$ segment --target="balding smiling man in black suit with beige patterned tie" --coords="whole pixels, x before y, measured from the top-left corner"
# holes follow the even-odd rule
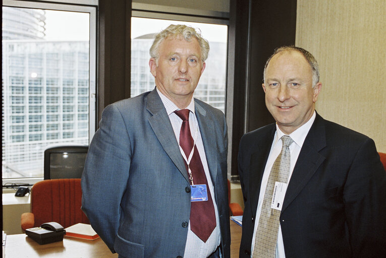
[[[386,257],[385,171],[370,138],[316,113],[315,58],[277,49],[262,86],[276,123],[240,142],[240,257]]]

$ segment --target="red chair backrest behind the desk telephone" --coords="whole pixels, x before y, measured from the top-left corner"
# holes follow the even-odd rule
[[[35,227],[51,221],[65,228],[80,222],[90,224],[81,205],[80,178],[43,180],[32,186],[31,212]]]

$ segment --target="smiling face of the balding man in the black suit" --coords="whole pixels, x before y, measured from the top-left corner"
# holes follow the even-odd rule
[[[321,83],[312,88],[312,69],[298,51],[275,54],[265,71],[265,104],[280,130],[291,134],[305,124],[315,110]]]

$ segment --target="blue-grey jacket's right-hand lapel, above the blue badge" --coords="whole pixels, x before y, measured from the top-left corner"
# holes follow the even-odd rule
[[[215,178],[217,176],[218,164],[216,135],[214,134],[214,130],[212,130],[212,128],[214,128],[214,123],[211,119],[208,119],[208,117],[206,117],[206,110],[202,106],[200,106],[197,101],[194,102],[194,109],[197,117],[198,126],[200,128],[202,144],[204,145],[209,173],[212,179],[212,183],[214,185]]]

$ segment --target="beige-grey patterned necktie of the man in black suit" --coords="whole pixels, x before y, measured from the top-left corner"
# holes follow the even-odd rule
[[[294,142],[291,137],[283,136],[283,148],[273,163],[265,188],[263,205],[257,225],[253,258],[269,258],[276,256],[276,245],[279,233],[280,211],[271,208],[273,188],[275,182],[287,183],[290,174],[290,145]]]

